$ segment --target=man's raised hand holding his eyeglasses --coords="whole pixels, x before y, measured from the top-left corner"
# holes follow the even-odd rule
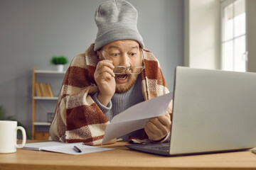
[[[102,60],[98,62],[95,70],[95,81],[99,87],[97,98],[100,103],[107,106],[115,92],[114,66],[111,60]]]

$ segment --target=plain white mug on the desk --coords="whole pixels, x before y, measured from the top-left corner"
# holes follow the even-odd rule
[[[22,132],[22,144],[17,145],[17,130]],[[13,153],[26,144],[26,131],[17,121],[0,120],[0,153]]]

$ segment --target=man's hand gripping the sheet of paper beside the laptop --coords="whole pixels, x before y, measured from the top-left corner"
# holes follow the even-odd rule
[[[169,113],[166,115],[159,115],[157,118],[151,118],[146,123],[144,128],[149,140],[162,140],[170,132],[171,129],[171,116]]]

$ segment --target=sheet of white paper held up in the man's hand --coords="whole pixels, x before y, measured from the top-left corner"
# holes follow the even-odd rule
[[[110,125],[107,125],[102,145],[114,138],[144,128],[149,118],[165,115],[172,96],[173,94],[169,93],[152,98],[114,116]]]

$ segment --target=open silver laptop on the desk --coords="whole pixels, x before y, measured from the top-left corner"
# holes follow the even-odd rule
[[[176,67],[170,142],[127,145],[177,156],[256,147],[256,73]]]

